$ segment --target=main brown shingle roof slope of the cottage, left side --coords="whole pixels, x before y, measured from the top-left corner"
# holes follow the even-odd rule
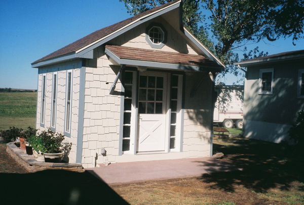
[[[143,17],[145,15],[148,15],[150,13],[153,13],[155,11],[161,10],[164,7],[170,6],[171,4],[174,4],[176,2],[177,2],[177,0],[173,1],[173,2],[170,2],[170,3],[167,3],[167,4],[164,4],[164,5],[159,6],[157,8],[148,10],[146,12],[143,12],[141,14],[133,16],[133,17],[131,17],[129,19],[121,21],[119,23],[116,23],[116,24],[107,26],[105,28],[102,28],[100,30],[97,30],[97,31],[95,31],[95,32],[93,32],[93,33],[91,33],[91,34],[89,34],[89,35],[87,35],[87,36],[85,36],[85,37],[83,37],[83,38],[75,41],[74,43],[71,43],[71,44],[63,47],[62,49],[59,49],[59,50],[57,50],[57,51],[55,51],[55,52],[53,52],[53,53],[51,53],[51,54],[49,54],[49,55],[47,55],[47,56],[39,59],[39,60],[34,61],[33,63],[39,63],[39,62],[42,62],[42,61],[45,61],[45,60],[49,60],[49,59],[56,58],[56,57],[59,57],[59,56],[67,55],[67,54],[70,54],[70,53],[74,53],[74,52],[80,50],[81,48],[83,48],[85,46],[88,46],[89,44],[95,42],[96,40],[98,40],[98,39],[100,39],[100,38],[102,38],[102,37],[104,37],[104,36],[106,36],[106,35],[114,32],[114,31],[122,28],[123,26],[131,23],[132,21],[135,21],[136,19],[139,19],[139,18],[141,18],[141,17]]]

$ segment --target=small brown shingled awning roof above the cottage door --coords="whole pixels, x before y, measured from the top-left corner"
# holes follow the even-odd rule
[[[105,46],[105,53],[118,64],[171,69],[189,69],[191,67],[200,71],[204,68],[214,68],[217,69],[217,72],[221,72],[222,69],[222,66],[202,55],[108,45]]]

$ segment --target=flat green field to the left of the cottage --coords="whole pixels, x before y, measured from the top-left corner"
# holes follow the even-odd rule
[[[0,130],[35,127],[37,93],[0,93]]]

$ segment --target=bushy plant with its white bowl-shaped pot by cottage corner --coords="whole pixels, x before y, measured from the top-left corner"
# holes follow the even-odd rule
[[[50,129],[42,131],[37,137],[41,138],[46,162],[60,162],[63,154],[71,149],[72,143],[63,142],[64,135]]]

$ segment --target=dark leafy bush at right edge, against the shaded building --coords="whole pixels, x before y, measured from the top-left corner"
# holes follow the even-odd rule
[[[294,140],[295,147],[301,151],[304,149],[304,110],[298,112],[295,124],[289,129],[288,134]]]

